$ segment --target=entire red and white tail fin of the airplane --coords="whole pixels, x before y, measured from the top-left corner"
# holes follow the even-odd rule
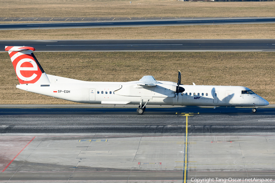
[[[32,53],[35,51],[35,48],[27,46],[6,46],[5,51],[9,52],[20,84],[50,83],[45,71]]]

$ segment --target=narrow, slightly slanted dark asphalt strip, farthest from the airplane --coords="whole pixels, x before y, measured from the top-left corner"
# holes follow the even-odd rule
[[[244,23],[274,23],[274,17],[252,18],[179,18],[158,20],[126,20],[104,22],[65,22],[65,23],[14,23],[0,24],[0,30],[26,29],[64,29],[64,28],[91,28],[91,27],[131,27],[131,26],[175,26],[175,25],[220,25]]]

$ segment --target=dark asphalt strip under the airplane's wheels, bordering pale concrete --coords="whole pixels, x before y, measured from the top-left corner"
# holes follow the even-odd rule
[[[1,133],[274,132],[274,107],[1,107]]]

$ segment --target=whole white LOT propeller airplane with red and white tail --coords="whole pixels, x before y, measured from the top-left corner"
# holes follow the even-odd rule
[[[146,104],[179,106],[257,107],[269,102],[244,86],[207,86],[157,81],[143,76],[139,81],[90,82],[46,74],[35,58],[32,47],[6,46],[20,85],[16,88],[42,95],[86,104],[139,104],[143,114]]]

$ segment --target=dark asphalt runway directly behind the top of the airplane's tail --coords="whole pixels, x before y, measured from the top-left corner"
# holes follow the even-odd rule
[[[275,51],[275,39],[1,40],[36,51]]]

